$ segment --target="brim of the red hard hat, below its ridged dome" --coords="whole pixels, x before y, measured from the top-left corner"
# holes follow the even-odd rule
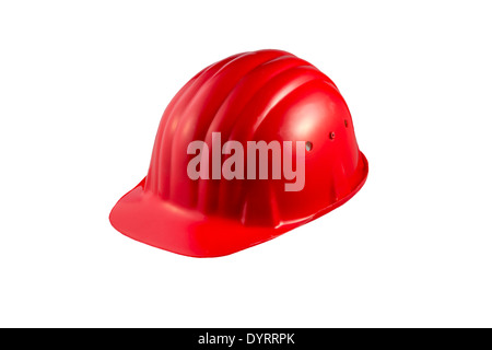
[[[164,250],[191,257],[230,255],[270,241],[347,202],[367,177],[367,160],[362,152],[360,155],[361,180],[348,196],[308,218],[277,228],[246,226],[239,221],[176,206],[145,192],[145,178],[115,205],[109,221],[124,235]]]

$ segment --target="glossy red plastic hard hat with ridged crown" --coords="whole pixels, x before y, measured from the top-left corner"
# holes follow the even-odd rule
[[[197,140],[204,144],[199,178],[188,173],[195,158],[189,145]],[[283,153],[303,154],[304,186],[288,190],[293,180],[285,174],[208,176],[216,147],[221,153],[229,140],[244,149],[250,141],[302,142],[303,152],[292,147]],[[224,151],[222,159],[231,154]],[[267,166],[272,164],[270,159]],[[258,163],[245,162],[245,174],[250,165]],[[122,234],[162,249],[222,256],[343,205],[362,187],[367,170],[349,108],[327,75],[285,51],[245,52],[207,67],[176,94],[162,116],[147,177],[116,203],[109,220]]]

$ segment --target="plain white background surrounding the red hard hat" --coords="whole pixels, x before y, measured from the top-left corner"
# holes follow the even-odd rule
[[[2,1],[0,326],[492,326],[488,1]],[[196,259],[112,228],[203,67],[278,48],[345,97],[366,185]]]

